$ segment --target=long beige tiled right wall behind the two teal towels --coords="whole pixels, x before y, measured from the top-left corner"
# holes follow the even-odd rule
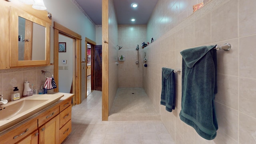
[[[175,6],[175,2],[180,10],[177,13],[167,7],[171,3]],[[182,0],[159,0],[154,9],[147,34],[156,40],[143,50],[148,59],[148,67],[143,68],[144,90],[176,144],[256,143],[256,1],[211,0],[186,18],[181,10],[184,3],[190,5]],[[164,17],[173,20],[162,25]],[[219,129],[214,140],[205,140],[179,118],[182,74],[175,74],[176,110],[170,113],[160,105],[161,68],[181,69],[180,51],[184,49],[225,43],[232,49],[217,52],[215,104]]]

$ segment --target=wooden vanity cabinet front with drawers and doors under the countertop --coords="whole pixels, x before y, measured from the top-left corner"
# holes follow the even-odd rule
[[[0,136],[0,144],[60,144],[70,134],[72,96]],[[15,137],[15,138],[14,138]]]

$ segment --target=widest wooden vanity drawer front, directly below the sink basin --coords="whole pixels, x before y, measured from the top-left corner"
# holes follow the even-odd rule
[[[14,144],[37,130],[37,120],[32,120],[0,137],[0,144]]]

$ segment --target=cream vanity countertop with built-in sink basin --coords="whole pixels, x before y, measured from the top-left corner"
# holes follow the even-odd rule
[[[51,106],[63,94],[34,94],[20,100],[11,101],[0,106],[0,132],[7,126],[15,124]]]

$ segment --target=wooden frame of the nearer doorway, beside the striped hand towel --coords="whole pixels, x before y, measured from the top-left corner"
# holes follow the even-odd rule
[[[80,104],[81,103],[81,40],[82,36],[73,32],[72,30],[58,24],[57,22],[54,23],[54,80],[56,82],[57,88],[54,89],[54,92],[59,92],[58,88],[58,60],[59,60],[59,34],[64,36],[68,36],[73,38],[73,104]]]

